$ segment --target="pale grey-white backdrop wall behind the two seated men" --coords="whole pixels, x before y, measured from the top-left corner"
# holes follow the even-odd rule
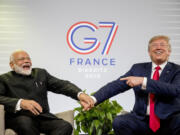
[[[88,94],[127,72],[132,64],[150,61],[148,40],[159,34],[171,37],[170,60],[180,64],[180,1],[178,0],[0,0],[0,73],[10,70],[9,55],[24,49],[33,67],[45,68],[52,75],[69,80]],[[72,51],[66,41],[70,27],[80,21],[98,26],[96,32],[79,29],[75,42],[81,47],[84,37],[95,37],[101,44],[93,53]],[[115,22],[118,30],[108,55],[101,51],[111,28],[99,22]],[[70,65],[70,59],[111,59],[114,65]],[[49,93],[51,112],[79,106],[77,101]],[[132,90],[117,95],[125,110],[132,110]]]

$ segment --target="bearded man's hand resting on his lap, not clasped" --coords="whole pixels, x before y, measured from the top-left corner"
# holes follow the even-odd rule
[[[22,99],[20,107],[24,110],[29,110],[34,115],[39,115],[42,113],[42,107],[34,100]]]

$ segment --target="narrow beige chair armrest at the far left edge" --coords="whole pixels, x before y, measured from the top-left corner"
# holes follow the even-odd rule
[[[4,120],[4,105],[0,105],[0,135],[4,135],[5,120]]]

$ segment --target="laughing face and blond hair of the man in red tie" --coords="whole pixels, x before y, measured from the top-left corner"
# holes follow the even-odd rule
[[[166,62],[171,53],[168,37],[156,37],[149,42],[149,56],[156,65]]]

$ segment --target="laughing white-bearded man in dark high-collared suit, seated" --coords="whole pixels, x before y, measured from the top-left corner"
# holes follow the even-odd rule
[[[17,50],[10,56],[12,71],[0,75],[0,104],[6,110],[6,128],[18,135],[71,135],[72,126],[50,113],[47,92],[70,96],[82,105],[93,100],[76,85],[50,75],[45,69],[32,68],[27,52]]]

